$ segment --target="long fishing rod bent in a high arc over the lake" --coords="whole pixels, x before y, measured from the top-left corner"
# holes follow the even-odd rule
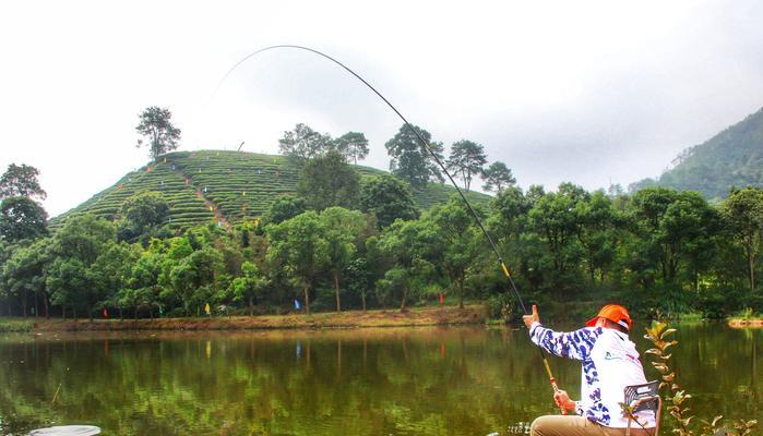
[[[397,108],[395,108],[394,105],[392,105],[390,102],[390,100],[388,100],[379,90],[377,90],[377,88],[374,88],[370,83],[368,83],[358,73],[350,70],[349,66],[347,66],[344,63],[339,62],[338,60],[332,58],[331,56],[325,55],[325,53],[318,51],[315,49],[312,49],[310,47],[296,46],[296,45],[270,46],[270,47],[265,47],[265,48],[259,49],[257,51],[253,51],[253,52],[247,55],[246,57],[243,57],[240,61],[236,62],[236,64],[234,64],[234,66],[231,66],[230,70],[228,70],[225,73],[225,75],[223,76],[223,78],[219,81],[219,83],[215,87],[215,90],[212,93],[210,100],[212,100],[212,98],[215,96],[215,94],[217,94],[217,90],[220,88],[220,86],[223,86],[223,83],[225,83],[225,81],[228,78],[230,73],[233,73],[239,65],[241,65],[243,62],[248,61],[249,59],[251,59],[251,58],[253,58],[262,52],[270,51],[270,50],[276,50],[276,49],[296,49],[296,50],[309,51],[313,55],[318,55],[324,59],[327,59],[327,60],[334,62],[335,64],[342,66],[348,73],[353,74],[355,76],[355,78],[362,82],[363,85],[366,85],[369,89],[371,89],[373,92],[373,94],[375,94],[379,98],[381,98],[382,101],[384,101],[386,104],[386,106],[389,106],[390,109],[392,109],[397,114],[397,117],[400,117],[400,119],[403,120],[403,123],[405,124],[405,126],[414,134],[414,136],[416,136],[416,138],[418,140],[421,147],[424,147],[424,149],[427,150],[427,153],[429,153],[429,155],[432,157],[432,159],[434,159],[438,167],[440,167],[440,169],[442,169],[442,172],[445,173],[445,175],[448,177],[448,180],[450,180],[451,184],[453,184],[453,187],[455,187],[456,192],[458,193],[458,196],[461,196],[461,199],[464,201],[466,208],[469,210],[469,214],[472,215],[475,222],[477,223],[477,227],[479,227],[479,230],[482,231],[485,239],[487,239],[488,243],[490,244],[490,249],[492,250],[492,253],[496,255],[498,263],[501,265],[501,270],[503,271],[503,275],[505,276],[505,278],[510,284],[509,289],[512,291],[512,293],[514,294],[514,298],[520,303],[520,306],[522,307],[522,312],[524,314],[529,315],[529,312],[527,311],[525,303],[522,301],[522,296],[520,295],[520,291],[516,289],[516,284],[514,283],[514,279],[512,278],[511,274],[509,272],[509,268],[506,267],[506,264],[503,262],[503,257],[501,256],[500,252],[498,251],[496,243],[493,242],[493,240],[490,237],[490,234],[488,233],[488,231],[485,229],[485,226],[482,225],[482,220],[479,219],[479,216],[472,207],[472,204],[466,198],[466,195],[464,195],[464,192],[461,191],[461,187],[458,187],[458,184],[455,182],[455,180],[453,180],[453,177],[451,175],[450,171],[448,171],[445,166],[442,164],[442,160],[438,157],[437,153],[434,153],[434,150],[432,150],[432,148],[429,146],[427,141],[425,141],[425,138],[421,136],[421,134],[418,132],[418,130],[416,130],[408,122],[408,120],[403,116],[403,113],[401,113],[401,111],[397,110]],[[544,361],[544,367],[546,368],[546,374],[548,375],[549,382],[551,384],[551,388],[553,389],[553,392],[557,393],[559,391],[559,386],[557,385],[557,379],[553,377],[553,373],[551,372],[551,366],[548,364],[548,359],[546,358],[546,354],[544,353],[544,351],[541,349],[538,349],[538,351],[540,351],[540,358]],[[567,410],[563,407],[560,407],[560,409],[561,409],[562,414],[567,414]]]

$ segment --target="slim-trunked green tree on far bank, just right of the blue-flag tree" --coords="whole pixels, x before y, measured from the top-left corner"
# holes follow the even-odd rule
[[[336,312],[342,312],[339,298],[342,271],[349,265],[357,252],[357,245],[363,243],[362,233],[367,222],[361,213],[343,207],[330,207],[323,210],[320,220],[325,239],[326,265],[334,279]]]

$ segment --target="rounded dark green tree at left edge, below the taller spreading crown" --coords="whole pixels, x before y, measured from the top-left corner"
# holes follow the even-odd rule
[[[29,197],[7,197],[0,203],[0,237],[9,242],[48,233],[48,214]]]

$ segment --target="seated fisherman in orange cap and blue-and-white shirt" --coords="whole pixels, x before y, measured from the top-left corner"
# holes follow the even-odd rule
[[[561,389],[553,401],[574,414],[539,416],[530,426],[530,436],[621,436],[628,419],[620,403],[625,386],[646,383],[635,344],[628,339],[631,316],[625,307],[607,304],[586,327],[570,332],[557,332],[540,324],[538,307],[525,315],[530,340],[551,354],[582,362],[581,401],[573,401]],[[654,434],[654,413],[635,414],[631,423],[634,436]]]

